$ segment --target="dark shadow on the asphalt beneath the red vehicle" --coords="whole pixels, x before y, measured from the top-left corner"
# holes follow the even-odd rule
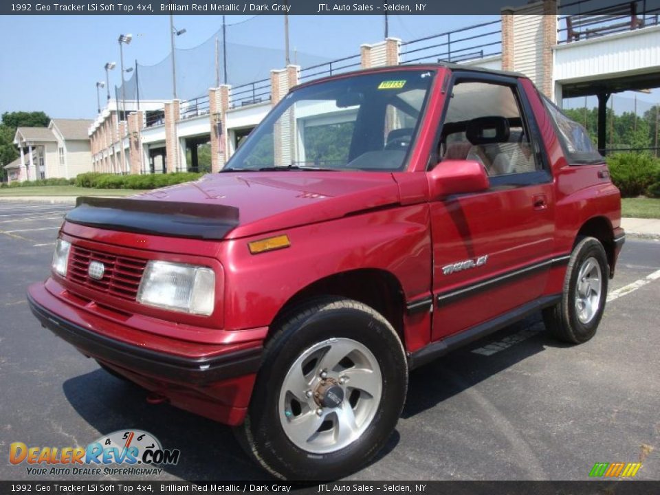
[[[505,338],[521,329],[540,324],[534,315],[464,349],[435,360],[410,374],[408,398],[402,417],[408,418],[437,406],[488,377],[554,345],[539,331],[494,355],[472,353],[471,349]],[[63,390],[82,419],[100,434],[137,428],[159,439],[164,448],[181,450],[177,465],[164,470],[186,480],[264,480],[269,475],[241,450],[231,428],[169,404],[147,404],[144,389],[124,382],[102,369],[67,380]],[[94,439],[89,439],[93,441]],[[399,443],[395,431],[376,459],[387,456]]]

